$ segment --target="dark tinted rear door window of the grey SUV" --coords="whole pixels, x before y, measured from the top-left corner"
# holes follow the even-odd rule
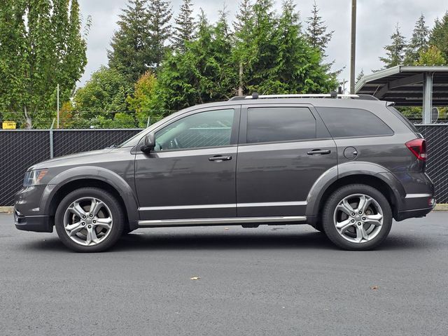
[[[316,119],[306,107],[250,108],[247,142],[293,141],[316,138]]]

